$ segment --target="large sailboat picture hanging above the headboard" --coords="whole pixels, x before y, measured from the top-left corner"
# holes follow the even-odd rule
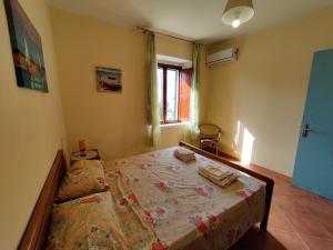
[[[41,38],[18,0],[4,0],[18,86],[48,92]]]

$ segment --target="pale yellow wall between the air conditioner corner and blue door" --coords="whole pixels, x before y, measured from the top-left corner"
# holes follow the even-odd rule
[[[240,49],[238,62],[209,69],[206,118],[224,131],[221,149],[241,154],[246,128],[255,138],[252,162],[292,174],[312,56],[333,47],[332,23],[333,8],[327,8],[210,48]]]

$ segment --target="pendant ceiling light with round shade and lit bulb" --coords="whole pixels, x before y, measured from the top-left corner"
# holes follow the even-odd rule
[[[239,28],[240,24],[250,21],[254,16],[252,0],[228,0],[225,6],[222,22],[233,28]]]

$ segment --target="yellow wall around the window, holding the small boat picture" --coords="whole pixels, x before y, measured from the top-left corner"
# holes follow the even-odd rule
[[[52,9],[52,23],[70,151],[82,138],[104,159],[148,150],[143,33],[59,9]],[[158,53],[191,59],[191,51],[190,42],[157,36]],[[97,91],[95,66],[122,70],[121,93]],[[160,147],[176,144],[185,129],[161,128]]]

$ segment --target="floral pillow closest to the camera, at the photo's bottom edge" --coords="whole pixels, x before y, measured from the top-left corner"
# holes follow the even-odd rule
[[[110,192],[53,204],[46,249],[128,249]]]

